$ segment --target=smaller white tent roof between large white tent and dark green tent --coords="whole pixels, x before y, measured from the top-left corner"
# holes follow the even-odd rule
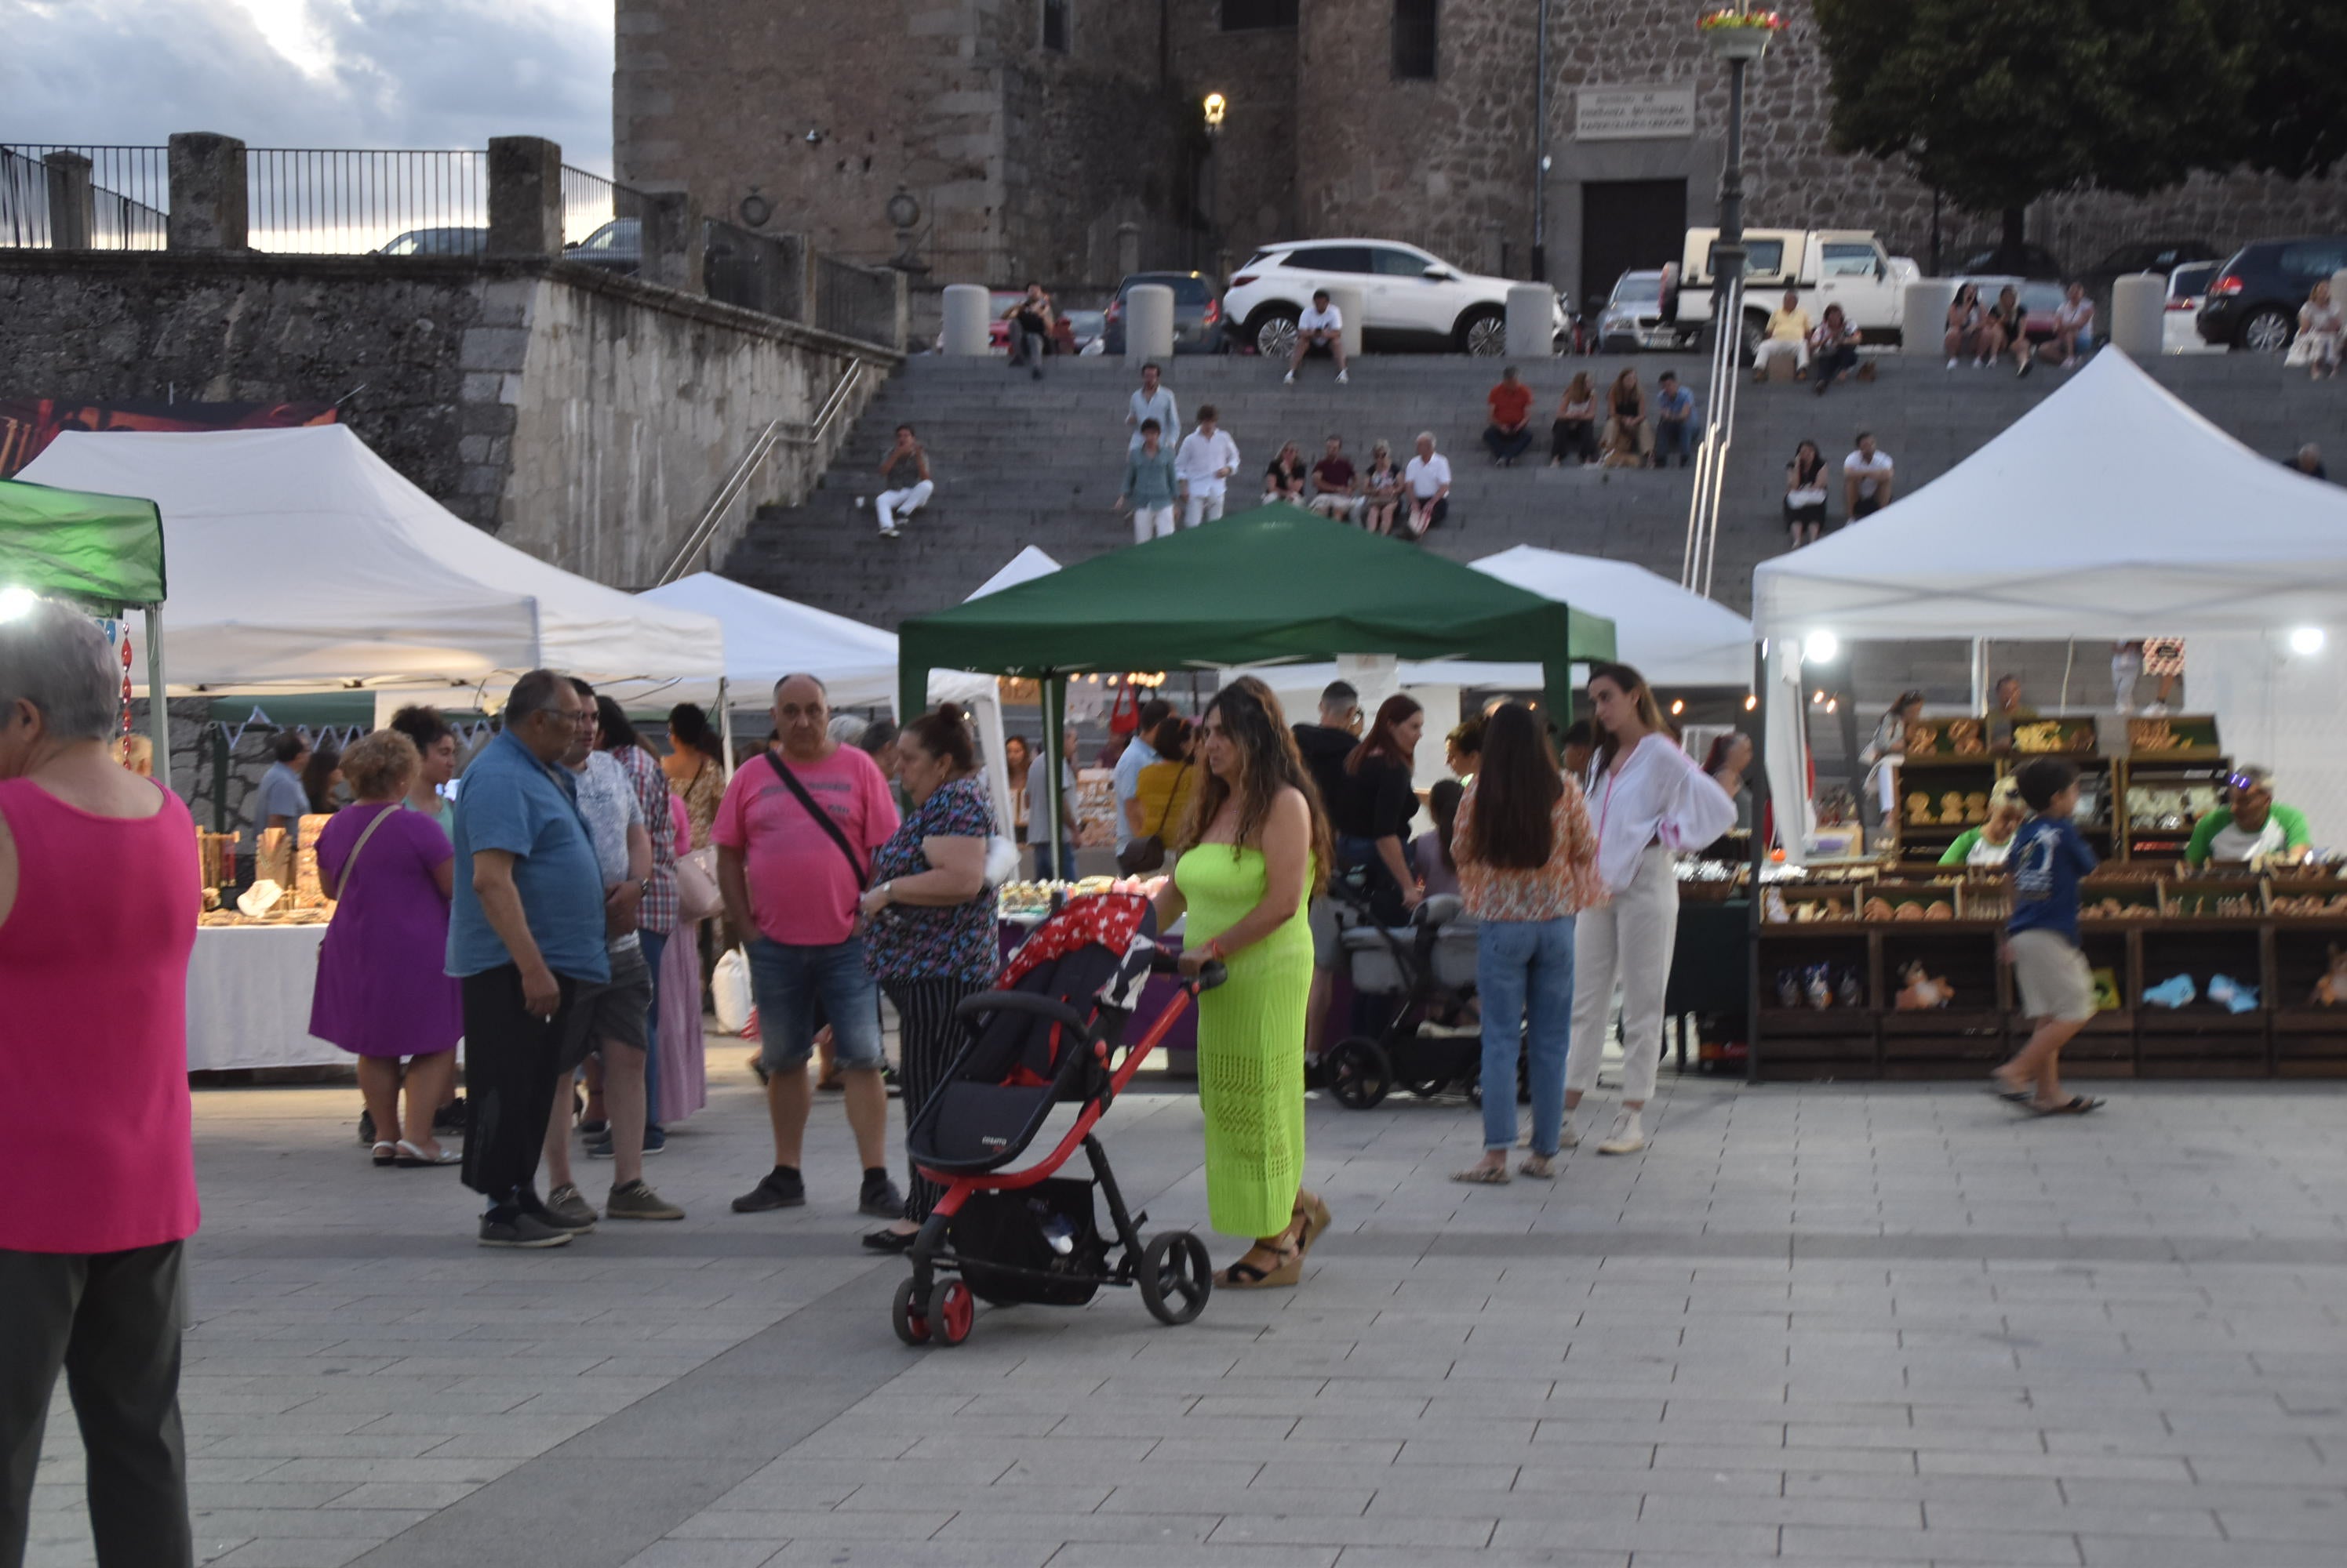
[[[775,681],[789,674],[821,681],[833,707],[885,707],[897,699],[894,631],[777,599],[716,573],[692,573],[636,599],[709,615],[725,627],[725,678],[737,702],[765,707]],[[929,702],[974,702],[993,690],[993,676],[946,669],[929,674]],[[716,681],[678,688],[669,699],[713,702]]]

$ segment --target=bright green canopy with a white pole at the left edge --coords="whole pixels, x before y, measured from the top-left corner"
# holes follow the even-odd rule
[[[146,610],[148,690],[162,692],[162,514],[153,500],[0,479],[0,592],[31,589],[106,615]],[[148,702],[155,779],[171,786],[169,704]]]

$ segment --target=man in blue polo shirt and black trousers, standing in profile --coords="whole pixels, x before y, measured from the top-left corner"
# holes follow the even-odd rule
[[[587,699],[552,669],[521,676],[505,699],[505,730],[465,770],[448,829],[448,974],[465,988],[465,1185],[486,1199],[481,1246],[561,1246],[587,1228],[554,1216],[535,1185],[563,1045],[587,1023],[580,991],[610,979],[603,873],[575,786],[554,765]]]

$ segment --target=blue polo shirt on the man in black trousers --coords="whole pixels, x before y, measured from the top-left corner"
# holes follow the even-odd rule
[[[465,770],[448,838],[455,843],[455,897],[448,906],[448,974],[481,974],[514,962],[472,890],[474,850],[509,850],[521,913],[537,953],[556,974],[608,981],[603,873],[594,859],[577,793],[512,732],[498,735]]]

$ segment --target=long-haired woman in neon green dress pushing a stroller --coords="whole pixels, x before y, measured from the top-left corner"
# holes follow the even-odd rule
[[[1279,699],[1253,676],[1225,685],[1199,721],[1204,777],[1181,861],[1157,894],[1157,927],[1185,911],[1183,972],[1220,960],[1230,979],[1197,1002],[1197,1103],[1206,1117],[1206,1216],[1253,1246],[1216,1277],[1225,1289],[1296,1284],[1328,1204],[1303,1190],[1305,1002],[1312,927],[1305,899],[1328,866],[1328,817],[1296,753]]]

